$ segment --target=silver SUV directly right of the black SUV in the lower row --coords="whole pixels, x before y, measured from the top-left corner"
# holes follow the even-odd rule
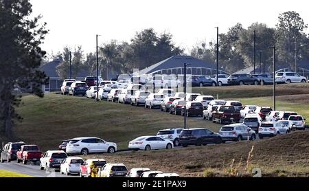
[[[220,128],[220,136],[223,142],[242,140],[255,140],[255,131],[246,126],[245,124],[229,124]]]

